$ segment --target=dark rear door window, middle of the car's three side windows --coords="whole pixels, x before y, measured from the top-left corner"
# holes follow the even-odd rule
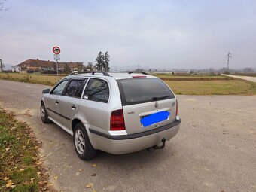
[[[87,79],[73,79],[66,89],[65,96],[81,97]]]

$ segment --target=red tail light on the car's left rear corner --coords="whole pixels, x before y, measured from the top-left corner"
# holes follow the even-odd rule
[[[123,109],[111,112],[110,130],[125,130]]]

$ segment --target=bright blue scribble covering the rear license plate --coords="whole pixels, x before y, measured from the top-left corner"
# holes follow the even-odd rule
[[[144,127],[150,126],[154,123],[159,123],[163,120],[167,120],[170,114],[171,113],[169,111],[160,111],[160,112],[148,115],[147,117],[143,117],[141,119],[141,123]]]

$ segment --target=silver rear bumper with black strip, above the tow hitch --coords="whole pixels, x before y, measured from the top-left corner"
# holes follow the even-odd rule
[[[181,120],[175,120],[166,126],[154,130],[130,135],[111,136],[89,129],[90,142],[93,148],[111,154],[127,154],[160,144],[163,137],[168,140],[178,133]]]

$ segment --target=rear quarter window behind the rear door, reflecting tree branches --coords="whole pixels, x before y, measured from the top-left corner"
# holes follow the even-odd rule
[[[107,81],[90,78],[85,88],[83,98],[96,102],[108,102],[109,87]]]

